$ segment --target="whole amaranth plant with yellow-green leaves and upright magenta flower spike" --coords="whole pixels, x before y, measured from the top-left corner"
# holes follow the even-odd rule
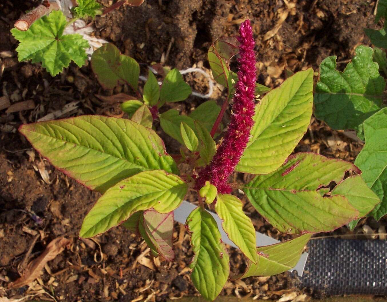
[[[173,260],[173,210],[190,191],[199,204],[186,222],[194,252],[191,279],[201,295],[214,300],[228,279],[269,276],[292,268],[313,233],[330,232],[380,204],[352,163],[313,153],[290,155],[310,124],[313,70],[297,72],[268,91],[256,84],[254,46],[248,20],[232,42],[219,39],[211,46],[212,74],[228,88],[221,108],[206,102],[188,117],[167,111],[166,118],[165,113],[156,112],[164,131],[182,143],[180,154],[166,153],[163,141],[151,129],[152,120],[143,117],[149,106],[159,108],[186,97],[188,89],[181,75],[171,70],[159,88],[149,73],[141,96],[137,63],[111,45],[93,55],[92,66],[102,85],[113,88],[127,83],[139,94],[137,109],[128,110],[133,112],[131,120],[85,115],[20,127],[54,166],[102,194],[84,218],[80,238],[122,225],[142,235],[154,256]],[[237,52],[235,74],[229,69],[229,59]],[[257,91],[268,92],[258,100]],[[231,98],[230,122],[216,144],[213,137]],[[208,108],[217,108],[217,116]],[[374,134],[365,126],[365,135]],[[179,163],[191,170],[181,173]],[[247,184],[236,184],[230,182],[234,171],[255,176]],[[354,175],[344,180],[348,171]],[[330,190],[332,182],[337,185]],[[358,190],[351,190],[353,186]],[[260,247],[242,201],[232,194],[234,189],[242,190],[279,231],[299,236]],[[218,214],[229,239],[247,257],[244,273],[230,276],[226,246],[206,208]]]

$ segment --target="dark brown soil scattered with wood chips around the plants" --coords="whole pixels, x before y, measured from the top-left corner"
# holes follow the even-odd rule
[[[105,6],[111,3],[100,2]],[[287,2],[289,8],[283,0],[148,0],[140,7],[125,6],[106,17],[97,17],[95,34],[113,42],[142,66],[160,62],[170,47],[165,65],[181,69],[201,63],[209,67],[206,56],[212,41],[236,34],[238,24],[250,18],[257,42],[259,82],[271,87],[283,82],[285,67],[293,72],[306,67],[318,71],[323,58],[337,55],[338,62],[345,62],[357,45],[368,45],[363,27],[375,27],[372,13],[376,1]],[[175,226],[176,261],[155,261],[153,269],[137,263],[136,258],[146,245],[123,228],[112,229],[95,241],[82,242],[77,233],[99,194],[56,171],[37,153],[34,159],[26,153],[31,146],[17,133],[20,124],[34,122],[72,101],[80,101],[79,107],[68,115],[106,114],[112,109],[95,95],[121,91],[104,91],[89,65],[82,68],[71,65],[53,78],[39,64],[17,61],[17,41],[9,30],[23,11],[38,3],[36,0],[0,3],[0,95],[7,95],[11,103],[32,100],[35,104],[30,110],[0,111],[0,297],[19,298],[43,290],[46,294],[37,297],[45,300],[127,302],[141,297],[147,301],[165,301],[168,297],[197,294],[187,269],[192,252],[184,227]],[[285,22],[272,38],[264,41],[265,34],[275,27],[284,12],[288,13]],[[345,64],[339,67],[344,68]],[[195,90],[205,92],[205,83],[195,81],[193,76],[187,76],[186,80]],[[221,97],[218,93],[219,102]],[[201,102],[202,99],[190,96],[187,101],[174,104],[174,108],[189,112]],[[337,136],[339,146],[328,142],[332,136]],[[162,137],[169,152],[177,151],[175,141]],[[313,151],[353,161],[361,147],[341,132],[332,132],[313,120],[296,151]],[[46,184],[34,168],[39,164],[45,166],[51,184]],[[239,179],[238,175],[235,177]],[[289,238],[277,233],[251,206],[246,205],[245,210],[251,213],[258,231],[279,239]],[[385,225],[385,220],[369,219],[366,223],[377,229]],[[342,228],[335,233],[348,230]],[[18,270],[22,272],[18,266],[38,256],[51,240],[61,235],[73,242],[48,263],[38,282],[31,288],[6,290],[7,283],[19,277]],[[34,238],[36,243],[28,253]],[[26,255],[28,259],[24,259]],[[149,254],[145,256],[152,261]],[[235,250],[230,249],[230,259],[235,272],[244,268],[245,260]],[[222,294],[278,298],[289,291],[301,292],[297,285],[296,278],[284,273],[228,283]]]

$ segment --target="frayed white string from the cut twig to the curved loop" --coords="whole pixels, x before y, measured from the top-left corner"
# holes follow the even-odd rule
[[[50,0],[50,1],[58,3],[60,10],[62,10],[63,14],[69,19],[72,18],[72,14],[71,14],[70,9],[72,8],[73,5],[72,5],[71,0]],[[89,41],[90,48],[88,48],[86,50],[86,53],[87,53],[89,60],[90,60],[91,55],[94,52],[94,50],[101,47],[104,43],[108,43],[108,41],[106,41],[104,39],[98,39],[96,37],[90,36],[90,34],[94,31],[94,27],[93,26],[85,27],[85,26],[86,26],[86,22],[83,21],[82,19],[78,19],[72,25],[67,26],[65,28],[65,30],[63,31],[63,34],[75,34],[75,33],[81,34],[84,39]],[[148,68],[154,74],[157,74],[157,71],[154,70],[152,67],[149,66]],[[188,74],[191,72],[199,72],[200,74],[204,75],[208,81],[208,92],[206,94],[202,94],[202,93],[199,93],[197,91],[192,91],[192,95],[198,96],[199,98],[204,98],[204,99],[211,98],[211,95],[214,91],[214,81],[211,79],[211,76],[209,74],[207,74],[207,72],[205,72],[203,69],[200,69],[200,68],[190,67],[187,69],[180,70],[181,74]],[[144,77],[143,75],[140,75],[139,78],[142,81],[147,80],[147,78]],[[158,82],[158,83],[159,83],[159,85],[161,85],[161,82]]]

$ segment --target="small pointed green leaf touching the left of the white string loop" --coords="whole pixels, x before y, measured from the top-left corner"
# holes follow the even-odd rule
[[[165,102],[184,101],[192,93],[191,87],[184,82],[180,71],[176,68],[172,69],[165,76],[161,85],[160,101],[158,104],[161,107]]]

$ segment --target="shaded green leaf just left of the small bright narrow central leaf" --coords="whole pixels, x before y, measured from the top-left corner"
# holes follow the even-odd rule
[[[175,109],[170,109],[159,115],[160,126],[164,132],[170,137],[176,139],[180,144],[184,144],[182,134],[180,133],[180,124],[186,123],[191,129],[195,131],[194,120],[187,115],[180,115]],[[196,133],[195,133],[196,134]]]

